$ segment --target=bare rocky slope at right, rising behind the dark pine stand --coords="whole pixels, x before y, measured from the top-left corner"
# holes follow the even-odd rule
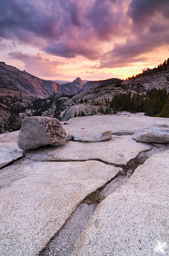
[[[105,111],[107,103],[113,99],[114,95],[121,93],[130,92],[131,95],[134,93],[141,95],[151,89],[166,89],[166,92],[169,92],[169,66],[167,67],[161,71],[148,70],[125,81],[114,80],[111,83],[111,79],[108,79],[87,82],[83,90],[72,97],[71,101],[64,102],[64,111],[60,114],[61,121],[74,117],[75,112],[79,115],[83,111],[88,116],[98,113],[98,109],[101,112],[101,107]]]

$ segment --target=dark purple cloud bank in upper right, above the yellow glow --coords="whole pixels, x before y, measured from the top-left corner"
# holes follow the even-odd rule
[[[169,45],[168,0],[132,0],[127,15],[132,19],[130,35],[125,44],[115,45],[102,55],[96,68],[125,67],[148,60],[144,54]]]

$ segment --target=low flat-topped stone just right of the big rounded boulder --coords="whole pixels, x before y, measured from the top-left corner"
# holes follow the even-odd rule
[[[111,131],[72,131],[68,133],[66,140],[99,142],[111,139]]]

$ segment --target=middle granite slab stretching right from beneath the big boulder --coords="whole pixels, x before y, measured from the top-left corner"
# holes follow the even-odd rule
[[[46,147],[25,151],[28,159],[35,161],[86,161],[100,160],[106,163],[126,165],[130,159],[152,146],[136,142],[131,135],[112,136],[103,142],[68,141],[60,147]]]

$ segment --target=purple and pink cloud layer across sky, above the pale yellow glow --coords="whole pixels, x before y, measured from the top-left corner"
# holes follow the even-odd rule
[[[34,46],[52,56],[97,60],[97,68],[124,67],[145,61],[147,52],[169,45],[169,1],[1,0],[1,39]],[[24,59],[29,68],[28,60],[34,58],[37,63],[42,58],[23,55],[10,54]],[[47,59],[40,63],[46,63],[51,74],[52,67],[63,64]]]

